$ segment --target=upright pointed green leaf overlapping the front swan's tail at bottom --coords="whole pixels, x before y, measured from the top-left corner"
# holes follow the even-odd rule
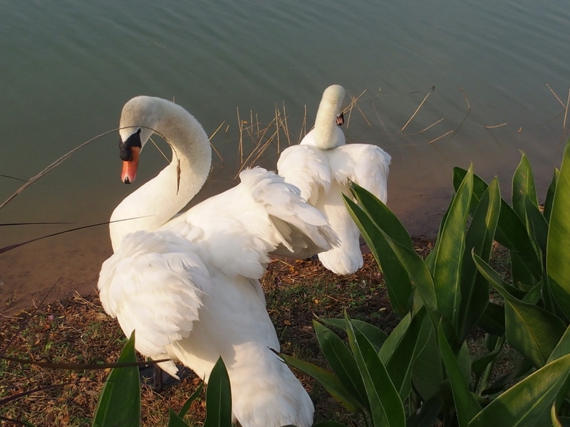
[[[232,388],[222,357],[209,374],[204,427],[232,427]]]

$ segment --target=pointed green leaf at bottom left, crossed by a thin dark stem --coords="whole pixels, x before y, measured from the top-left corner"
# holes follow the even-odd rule
[[[135,331],[117,361],[137,362]],[[140,376],[138,367],[113,368],[99,396],[93,427],[140,426]]]

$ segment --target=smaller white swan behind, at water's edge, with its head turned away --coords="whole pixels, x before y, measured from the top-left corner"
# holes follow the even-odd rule
[[[301,189],[309,204],[328,218],[341,245],[318,254],[336,274],[351,274],[363,265],[360,231],[344,206],[341,194],[351,195],[348,180],[356,182],[385,203],[390,154],[372,144],[346,144],[340,127],[345,90],[331,85],[318,105],[315,127],[299,145],[285,149],[277,171]]]

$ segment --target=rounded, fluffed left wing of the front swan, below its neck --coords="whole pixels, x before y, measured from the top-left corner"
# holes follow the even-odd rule
[[[152,359],[169,359],[167,347],[188,337],[199,319],[209,274],[194,249],[173,233],[138,231],[101,268],[103,308],[127,337],[136,330],[136,349]],[[176,376],[173,362],[160,366]]]

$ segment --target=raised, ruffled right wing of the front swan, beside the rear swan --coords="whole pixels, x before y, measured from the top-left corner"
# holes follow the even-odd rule
[[[197,244],[206,265],[225,274],[261,278],[269,253],[306,258],[336,244],[336,234],[299,189],[256,167],[241,183],[194,206],[167,227]]]

